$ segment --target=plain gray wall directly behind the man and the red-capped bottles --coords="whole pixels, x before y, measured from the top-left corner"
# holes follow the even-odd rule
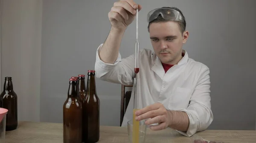
[[[94,68],[96,48],[110,30],[115,0],[44,0],[41,49],[41,121],[62,122],[70,76]],[[175,6],[187,20],[189,57],[210,68],[214,121],[209,129],[254,129],[256,117],[255,0],[136,0],[141,48],[152,49],[146,14]],[[136,22],[127,29],[120,53],[134,53]],[[96,79],[101,125],[119,126],[119,84]]]

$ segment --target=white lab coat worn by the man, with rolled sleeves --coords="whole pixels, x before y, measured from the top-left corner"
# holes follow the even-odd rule
[[[113,83],[133,85],[134,55],[121,58],[119,53],[114,64],[107,64],[99,59],[96,52],[96,77]],[[179,132],[185,136],[192,136],[198,131],[207,129],[212,123],[213,115],[210,103],[209,68],[193,59],[188,53],[178,64],[166,73],[160,59],[152,50],[140,50],[140,93],[138,95],[139,108],[160,102],[166,109],[186,112],[189,117],[187,132]],[[122,126],[126,126],[133,118],[134,96],[132,94],[124,115]]]

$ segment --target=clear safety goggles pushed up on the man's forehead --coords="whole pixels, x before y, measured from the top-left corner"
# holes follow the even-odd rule
[[[172,8],[156,8],[148,12],[147,21],[151,22],[154,19],[156,19],[159,14],[165,19],[165,20],[174,20],[183,22],[183,18],[179,11],[176,11]]]

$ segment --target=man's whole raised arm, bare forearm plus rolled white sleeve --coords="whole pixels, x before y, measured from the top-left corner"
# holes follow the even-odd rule
[[[105,42],[96,52],[96,77],[117,84],[131,85],[134,77],[134,55],[122,59],[119,48],[125,29],[136,16],[136,9],[141,9],[133,0],[115,2],[108,13],[111,30]]]

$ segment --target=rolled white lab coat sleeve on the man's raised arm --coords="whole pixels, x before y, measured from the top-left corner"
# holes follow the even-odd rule
[[[113,64],[103,62],[99,58],[101,44],[96,51],[95,75],[97,78],[116,84],[133,85],[134,77],[134,55],[122,59],[120,53]]]

